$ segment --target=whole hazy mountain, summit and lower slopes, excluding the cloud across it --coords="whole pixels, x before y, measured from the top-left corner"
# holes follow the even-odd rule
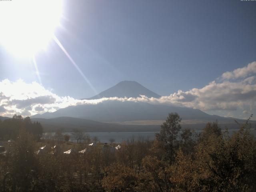
[[[123,92],[124,90],[124,92]],[[130,93],[131,92],[131,93]],[[147,97],[159,96],[148,90],[135,81],[122,81],[115,86],[101,92],[95,97],[136,97],[143,94]],[[154,95],[156,94],[156,95]],[[207,121],[233,121],[232,118],[221,117],[207,114],[199,109],[173,106],[168,104],[150,104],[148,102],[137,102],[132,100],[105,100],[98,104],[80,104],[61,108],[55,112],[46,112],[36,114],[31,118],[57,118],[68,116],[72,118],[81,118],[94,120],[98,122],[128,122],[143,120],[165,120],[169,113],[177,112],[184,120],[207,120]]]

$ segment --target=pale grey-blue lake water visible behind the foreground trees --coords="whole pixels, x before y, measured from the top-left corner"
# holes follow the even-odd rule
[[[224,130],[223,130],[224,131]],[[231,135],[233,132],[237,130],[229,130],[229,134]],[[200,133],[202,131],[195,131],[195,133]],[[144,139],[154,140],[156,132],[88,132],[91,139],[95,136],[100,140],[100,142],[109,142],[110,139],[114,139],[115,142],[122,142],[127,139],[134,138],[135,140],[139,137],[143,137]],[[256,130],[251,129],[251,133],[256,136]],[[46,133],[52,134],[54,133]],[[67,132],[63,134],[69,134],[71,136],[70,141],[76,142],[76,140],[72,137],[72,133]]]

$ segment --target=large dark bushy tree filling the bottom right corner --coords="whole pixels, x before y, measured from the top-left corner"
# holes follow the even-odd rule
[[[197,145],[198,180],[204,191],[255,191],[256,140],[244,124],[232,136],[211,134]]]

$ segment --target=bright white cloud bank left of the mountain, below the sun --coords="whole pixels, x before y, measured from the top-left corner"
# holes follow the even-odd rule
[[[100,102],[100,101],[98,101]],[[25,83],[23,80],[0,82],[0,115],[34,115],[38,112],[54,112],[77,104],[95,104],[97,101],[76,100],[70,96],[60,97],[46,90],[37,82]]]

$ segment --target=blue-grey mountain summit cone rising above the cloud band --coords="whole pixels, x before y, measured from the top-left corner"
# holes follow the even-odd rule
[[[161,96],[150,91],[146,87],[142,86],[136,81],[122,81],[116,84],[115,86],[102,91],[96,96],[93,96],[91,98],[86,98],[87,100],[92,99],[100,99],[103,97],[139,97],[140,95],[147,96],[148,98],[154,97],[154,98],[160,98]]]

